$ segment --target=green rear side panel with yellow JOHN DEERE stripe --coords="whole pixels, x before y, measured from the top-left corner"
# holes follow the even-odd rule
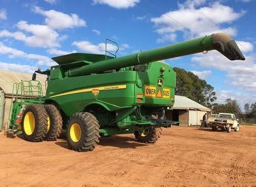
[[[134,83],[136,72],[117,72],[97,74],[82,77],[82,104],[84,107],[90,103],[100,102],[109,110],[119,110],[132,106],[134,103]],[[93,90],[99,90],[97,96]]]

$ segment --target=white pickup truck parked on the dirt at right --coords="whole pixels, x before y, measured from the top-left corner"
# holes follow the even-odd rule
[[[223,131],[230,132],[231,129],[239,131],[238,119],[235,119],[233,113],[219,113],[216,119],[211,123],[212,131],[216,131],[220,128]]]

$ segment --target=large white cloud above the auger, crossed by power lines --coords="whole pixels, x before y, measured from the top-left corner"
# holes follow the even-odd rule
[[[199,0],[193,2],[196,5],[201,5],[205,1]],[[190,37],[223,32],[198,10],[207,15],[218,25],[230,24],[245,13],[244,11],[235,12],[231,7],[218,2],[198,9],[188,4],[188,2],[185,2],[185,4],[179,6],[178,10],[169,11],[159,17],[153,17],[151,21],[154,23],[156,32],[164,36],[175,32],[183,32]],[[237,34],[237,30],[233,27],[224,27],[223,29],[230,35],[234,36]],[[193,32],[198,34],[194,34]]]

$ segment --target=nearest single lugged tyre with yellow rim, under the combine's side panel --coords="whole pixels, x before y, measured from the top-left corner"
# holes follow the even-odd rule
[[[100,125],[95,116],[78,112],[71,116],[67,126],[67,141],[74,151],[92,151],[99,143]]]

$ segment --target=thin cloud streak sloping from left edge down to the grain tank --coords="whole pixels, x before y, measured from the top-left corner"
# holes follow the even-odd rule
[[[53,65],[52,60],[43,55],[37,55],[37,54],[27,54],[21,50],[17,50],[14,48],[10,48],[6,46],[3,42],[0,42],[0,54],[8,54],[9,58],[15,58],[15,57],[20,57],[20,58],[25,58],[29,60],[35,60],[37,64],[39,65],[46,65],[49,66],[50,64]]]

